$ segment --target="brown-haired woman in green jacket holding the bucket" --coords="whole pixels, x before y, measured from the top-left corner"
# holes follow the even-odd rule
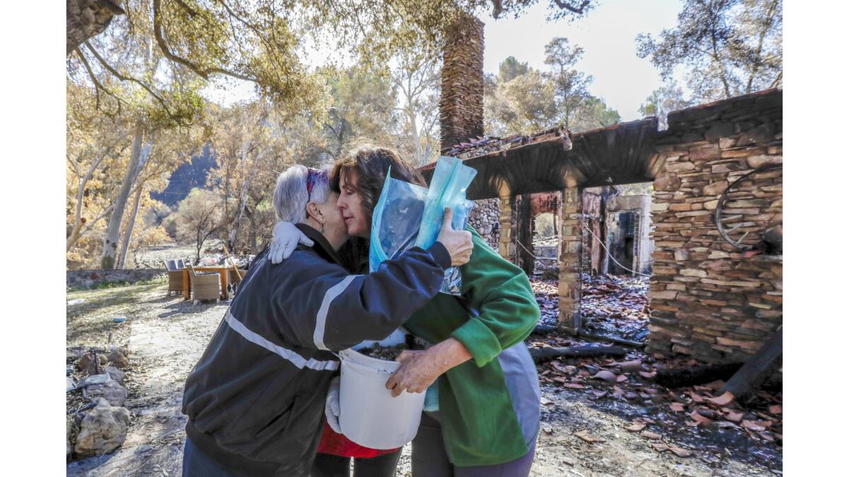
[[[330,185],[339,191],[337,205],[352,237],[368,239],[390,166],[392,177],[425,185],[391,149],[360,147],[336,160]],[[272,255],[297,240],[278,230]],[[395,396],[403,390],[429,393],[413,440],[414,477],[522,476],[533,462],[540,392],[523,340],[536,326],[539,308],[526,274],[473,228],[467,230],[475,248],[460,267],[462,296],[437,295],[404,323],[432,345],[404,351],[401,368],[386,382]]]

